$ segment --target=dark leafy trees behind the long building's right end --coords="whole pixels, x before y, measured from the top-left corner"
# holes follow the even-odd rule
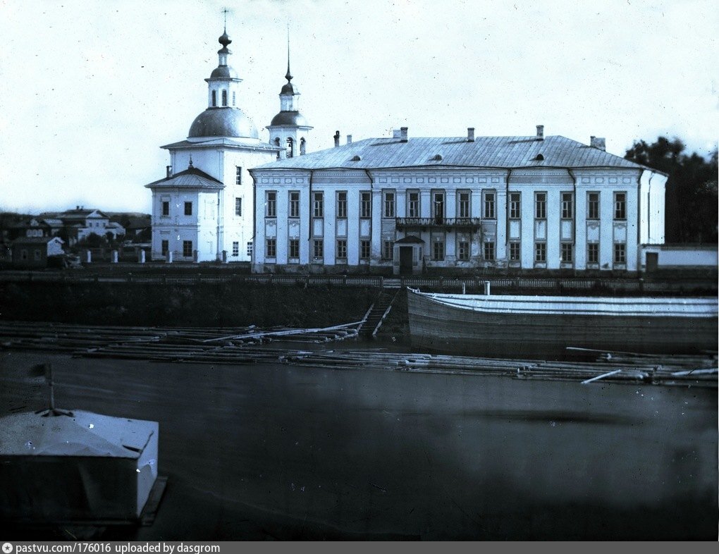
[[[667,173],[664,208],[668,243],[717,241],[717,150],[707,160],[677,138],[659,137],[647,144],[634,142],[624,156],[627,160]]]

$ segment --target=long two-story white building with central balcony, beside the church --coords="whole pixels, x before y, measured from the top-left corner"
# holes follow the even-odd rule
[[[634,272],[664,242],[667,176],[565,137],[349,142],[250,170],[255,272]]]

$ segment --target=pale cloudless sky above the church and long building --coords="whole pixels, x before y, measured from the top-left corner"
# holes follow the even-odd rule
[[[206,108],[225,8],[261,139],[289,29],[308,151],[400,126],[717,144],[715,0],[0,0],[0,211],[149,213],[160,146]]]

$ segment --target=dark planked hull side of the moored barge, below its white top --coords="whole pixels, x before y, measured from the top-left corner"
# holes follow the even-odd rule
[[[648,354],[717,349],[717,318],[705,314],[500,313],[451,305],[443,296],[408,292],[413,347],[468,356],[554,359],[572,357],[568,347]],[[495,307],[501,304],[501,297],[492,298]]]

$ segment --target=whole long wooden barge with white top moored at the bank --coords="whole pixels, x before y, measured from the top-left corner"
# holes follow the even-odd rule
[[[717,299],[451,295],[408,290],[413,346],[470,356],[569,357],[717,349]]]

